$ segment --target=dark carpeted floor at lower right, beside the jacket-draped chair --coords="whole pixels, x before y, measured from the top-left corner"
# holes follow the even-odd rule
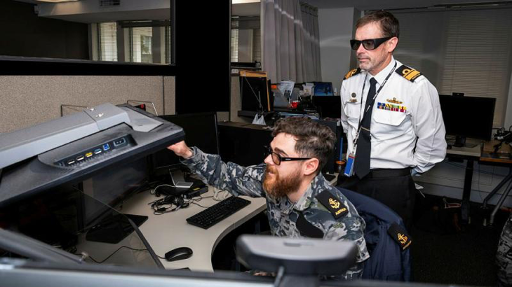
[[[483,218],[491,210],[472,203],[471,223],[462,225],[460,209],[444,209],[441,197],[417,198],[415,225],[410,230],[412,281],[496,286],[494,257],[508,212],[499,211],[494,226],[484,227]]]

